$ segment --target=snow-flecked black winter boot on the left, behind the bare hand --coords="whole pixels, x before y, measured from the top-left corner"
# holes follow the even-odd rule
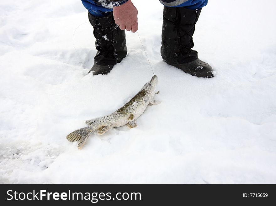
[[[94,65],[88,73],[93,71],[93,75],[107,74],[127,54],[125,31],[115,24],[112,12],[106,18],[94,17],[88,13],[88,18],[94,28],[95,46],[98,50]]]

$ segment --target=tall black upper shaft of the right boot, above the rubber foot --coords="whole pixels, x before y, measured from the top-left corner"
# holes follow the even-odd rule
[[[163,11],[161,55],[168,63],[187,63],[196,60],[193,34],[200,10],[184,7],[165,7]]]

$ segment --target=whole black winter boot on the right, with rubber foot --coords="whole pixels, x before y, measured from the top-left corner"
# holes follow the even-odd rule
[[[196,77],[212,78],[212,67],[199,60],[193,34],[200,10],[165,7],[163,12],[161,55],[169,65]]]

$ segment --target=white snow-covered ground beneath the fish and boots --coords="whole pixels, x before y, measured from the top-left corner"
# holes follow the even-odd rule
[[[276,183],[276,2],[203,8],[194,49],[213,79],[164,63],[162,5],[133,2],[162,103],[82,150],[66,135],[151,79],[137,34],[110,74],[86,75],[96,50],[80,0],[0,2],[0,182]]]

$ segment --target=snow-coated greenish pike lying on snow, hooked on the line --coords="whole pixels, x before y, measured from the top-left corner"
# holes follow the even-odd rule
[[[98,135],[103,135],[114,127],[121,127],[126,125],[128,128],[135,128],[137,126],[136,119],[144,113],[147,106],[159,104],[161,102],[153,100],[157,87],[158,78],[154,75],[151,81],[147,82],[140,92],[138,92],[130,101],[124,106],[113,112],[112,114],[103,117],[89,119],[84,121],[88,126],[77,129],[66,136],[70,142],[78,141],[78,149],[82,149],[88,137],[95,131]]]

